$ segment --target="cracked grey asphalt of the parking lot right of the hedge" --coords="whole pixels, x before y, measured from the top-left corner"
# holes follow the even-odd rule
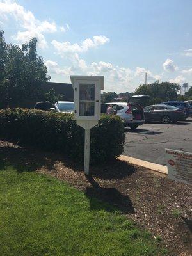
[[[177,124],[150,123],[125,129],[124,155],[166,165],[165,148],[192,152],[192,118]]]

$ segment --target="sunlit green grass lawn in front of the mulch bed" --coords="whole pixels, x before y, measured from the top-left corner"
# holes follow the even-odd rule
[[[138,230],[65,182],[0,164],[0,255],[161,255]],[[112,209],[111,209],[112,210]]]

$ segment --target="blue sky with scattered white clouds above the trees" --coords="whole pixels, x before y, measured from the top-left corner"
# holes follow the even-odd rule
[[[1,1],[6,42],[38,38],[51,81],[105,77],[105,91],[159,79],[192,84],[192,1]]]

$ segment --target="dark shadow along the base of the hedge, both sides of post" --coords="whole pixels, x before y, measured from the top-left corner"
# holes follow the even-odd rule
[[[83,172],[83,163],[76,163],[56,152],[44,152],[34,148],[0,147],[0,170],[12,164],[17,172],[35,172],[42,167],[54,172],[58,162],[75,172]],[[134,166],[118,159],[113,159],[110,163],[90,166],[92,175],[108,180],[123,179],[134,172]]]

